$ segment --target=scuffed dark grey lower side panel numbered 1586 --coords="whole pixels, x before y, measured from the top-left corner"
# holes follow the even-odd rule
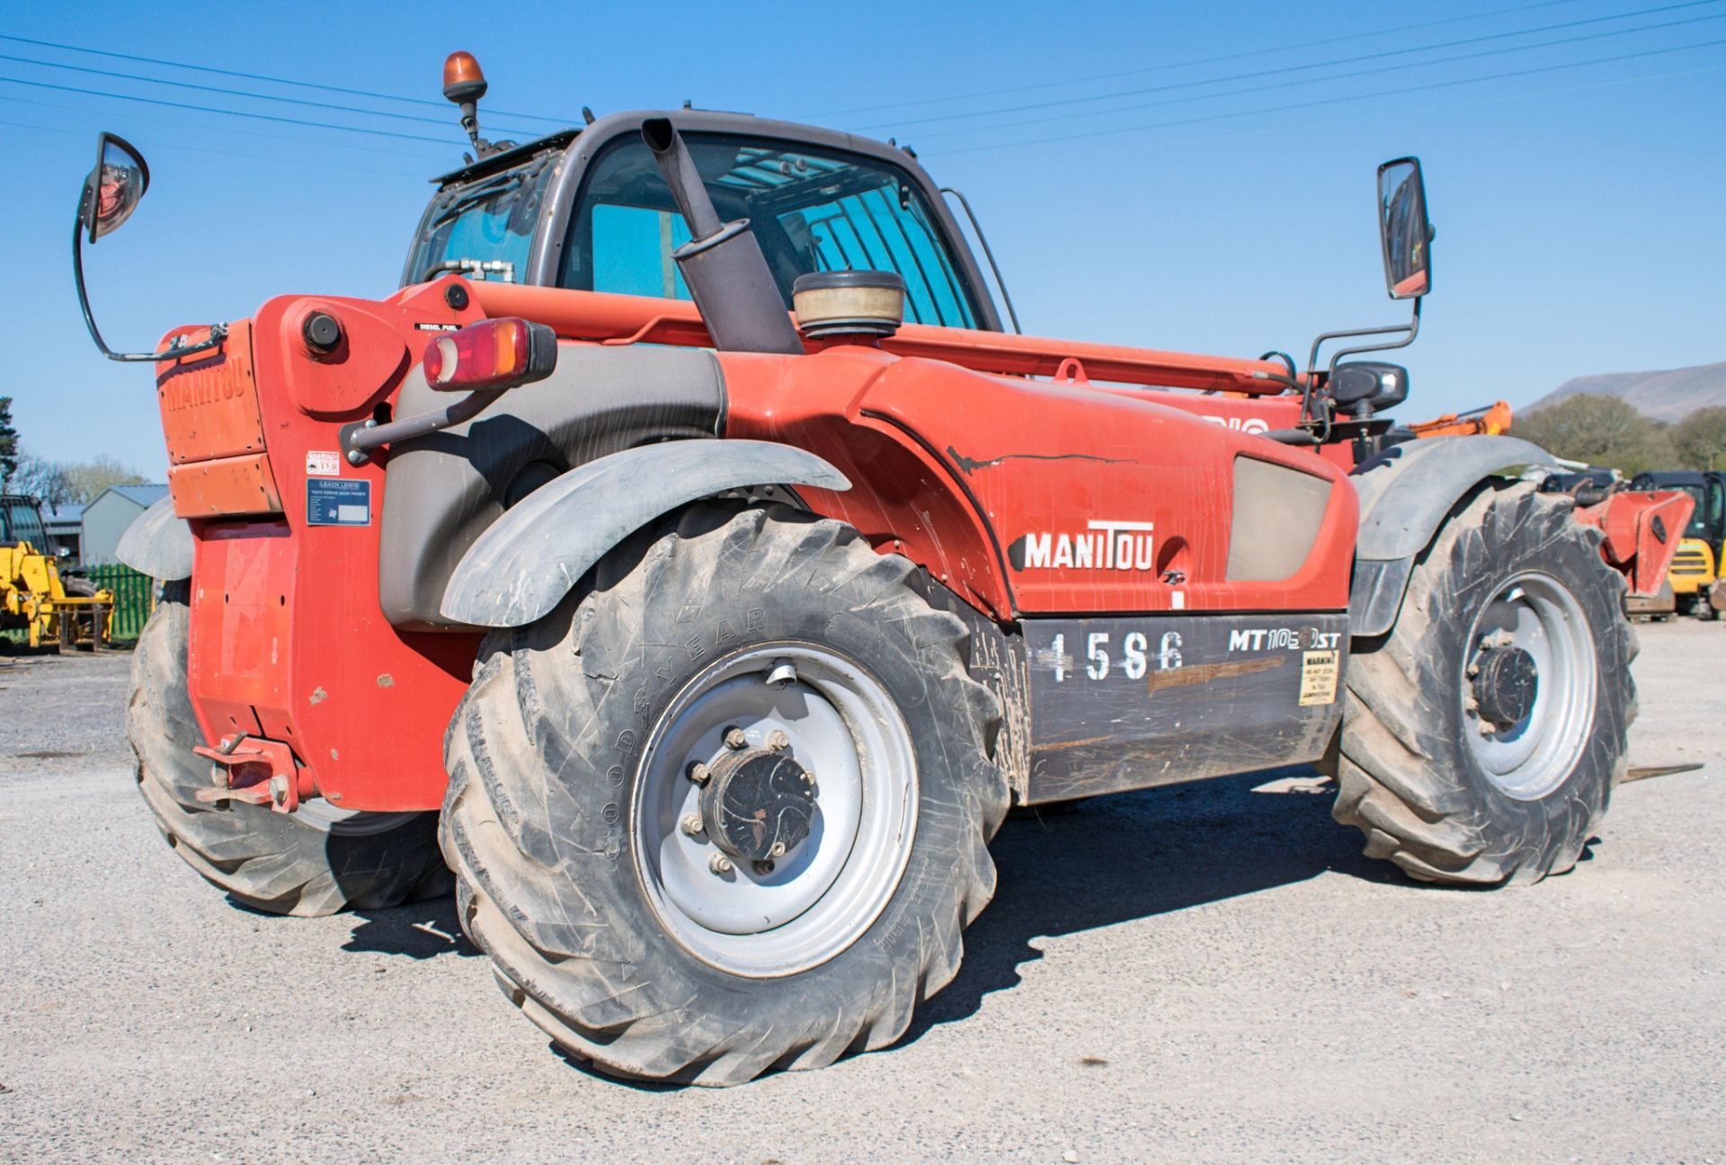
[[[1343,715],[1348,618],[1025,620],[1025,801],[1315,761]]]

